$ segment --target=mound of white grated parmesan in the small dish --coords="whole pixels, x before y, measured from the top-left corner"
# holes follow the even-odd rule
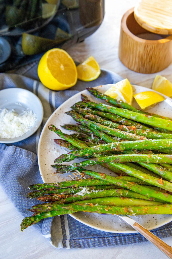
[[[22,114],[15,110],[4,108],[0,113],[0,138],[17,138],[27,133],[35,123],[36,117],[32,111]]]

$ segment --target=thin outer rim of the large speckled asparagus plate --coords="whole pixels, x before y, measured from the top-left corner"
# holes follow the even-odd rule
[[[112,85],[114,85],[114,84],[107,84],[107,85],[112,86]],[[106,85],[106,86],[107,86],[107,85]],[[159,93],[159,92],[157,92],[157,91],[155,91],[155,90],[153,90],[153,89],[150,89],[150,88],[147,88],[147,87],[144,87],[144,86],[140,86],[140,85],[135,85],[135,84],[132,84],[132,85],[133,85],[134,87],[141,87],[141,88],[143,89],[143,92],[144,92],[144,90],[145,90],[145,91],[156,92],[157,94],[160,94],[160,95],[164,96],[165,99],[169,99],[169,100],[172,102],[172,99],[171,99],[171,98],[169,98],[168,96],[165,96],[164,94],[161,94],[161,93]],[[102,85],[102,86],[105,86],[105,85]],[[92,88],[99,89],[99,87],[101,87],[101,85],[95,86],[95,87],[92,87]],[[38,166],[39,166],[39,171],[40,171],[40,175],[41,175],[41,178],[42,178],[43,182],[45,182],[45,181],[44,181],[44,176],[43,176],[43,174],[41,173],[41,166],[40,166],[40,143],[41,143],[41,140],[42,140],[42,137],[43,137],[43,134],[44,134],[44,129],[47,127],[47,125],[48,125],[48,123],[49,123],[49,120],[53,117],[53,115],[54,115],[58,110],[61,109],[61,106],[62,106],[62,105],[65,105],[66,103],[68,103],[71,99],[74,98],[74,96],[80,96],[81,94],[83,94],[84,91],[86,91],[86,89],[85,89],[85,90],[82,90],[81,92],[79,92],[79,93],[77,93],[77,94],[75,94],[75,95],[73,95],[73,96],[71,96],[69,99],[67,99],[65,102],[63,102],[63,103],[52,113],[52,115],[48,118],[48,120],[46,121],[46,123],[45,123],[45,125],[44,125],[44,127],[43,127],[43,129],[42,129],[42,132],[41,132],[41,135],[40,135],[40,138],[39,138],[39,142],[38,142]],[[91,224],[89,224],[89,223],[87,223],[87,222],[84,222],[83,220],[80,220],[79,218],[77,218],[77,217],[75,216],[75,213],[74,213],[74,214],[68,214],[68,215],[70,215],[70,216],[71,216],[72,218],[74,218],[75,220],[77,220],[77,221],[79,221],[79,222],[85,224],[86,226],[89,226],[89,227],[91,227],[91,228],[94,228],[94,229],[97,229],[97,230],[100,230],[100,231],[109,232],[109,233],[118,233],[118,234],[134,234],[134,233],[138,233],[138,231],[134,230],[134,228],[133,228],[133,230],[129,230],[129,231],[128,231],[128,230],[124,230],[124,231],[114,231],[114,230],[113,230],[113,231],[110,231],[110,230],[108,230],[108,231],[106,231],[106,230],[104,230],[104,229],[102,229],[102,228],[99,228],[99,227],[97,227],[97,226],[93,226],[93,225],[91,225]],[[155,226],[155,227],[149,227],[149,228],[147,228],[147,229],[148,229],[148,230],[153,230],[153,229],[159,228],[159,227],[161,227],[161,226],[164,226],[165,224],[168,224],[168,223],[171,222],[171,221],[172,221],[172,215],[171,215],[171,218],[169,218],[169,220],[166,220],[166,221],[163,222],[162,224],[158,224],[158,225]]]

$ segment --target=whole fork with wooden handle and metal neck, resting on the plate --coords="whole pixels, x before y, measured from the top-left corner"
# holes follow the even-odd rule
[[[107,215],[107,214],[110,214],[110,213],[107,213],[107,214],[100,213],[100,214],[101,215]],[[112,215],[112,214],[110,214],[110,215]],[[165,242],[163,242],[159,237],[155,236],[153,233],[148,231],[142,225],[137,223],[134,219],[132,219],[132,218],[126,216],[126,215],[116,215],[116,214],[114,214],[114,216],[118,216],[119,218],[121,218],[122,220],[127,222],[130,226],[132,226],[134,229],[136,229],[142,236],[144,236],[147,240],[149,240],[156,247],[158,247],[159,250],[161,250],[166,256],[168,256],[169,258],[172,258],[172,247],[167,245]]]

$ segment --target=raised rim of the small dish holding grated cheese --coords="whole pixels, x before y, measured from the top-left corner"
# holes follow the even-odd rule
[[[5,88],[5,89],[2,89],[1,91],[4,91],[4,92],[5,92],[6,90],[9,90],[9,89],[14,89],[14,91],[25,91],[25,92],[29,92],[29,94],[30,94],[31,96],[34,95],[34,97],[36,97],[36,99],[38,100],[38,102],[39,102],[39,104],[40,104],[40,106],[39,106],[38,108],[39,108],[39,109],[41,108],[41,117],[40,117],[39,123],[36,125],[34,131],[31,131],[31,132],[30,132],[30,130],[32,129],[32,128],[31,128],[31,129],[29,130],[30,133],[27,134],[27,132],[26,132],[24,135],[22,135],[22,136],[20,136],[20,137],[12,138],[12,139],[9,139],[9,140],[4,139],[4,138],[3,138],[3,139],[0,138],[0,143],[3,143],[3,144],[12,144],[12,143],[22,141],[22,140],[24,140],[24,139],[29,138],[30,136],[32,136],[32,135],[37,131],[37,129],[40,127],[40,125],[41,125],[41,123],[42,123],[42,120],[43,120],[43,116],[44,116],[44,110],[43,110],[42,102],[40,101],[40,99],[38,98],[38,96],[36,96],[36,94],[32,93],[31,91],[29,91],[29,90],[27,90],[27,89],[18,88],[18,87]]]

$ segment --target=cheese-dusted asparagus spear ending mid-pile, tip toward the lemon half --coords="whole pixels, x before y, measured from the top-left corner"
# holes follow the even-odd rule
[[[110,127],[101,125],[100,123],[90,121],[88,119],[85,119],[83,116],[76,113],[75,111],[69,111],[69,112],[66,112],[66,114],[70,115],[75,121],[81,123],[82,125],[85,125],[86,127],[88,127],[93,131],[94,129],[97,129],[109,135],[116,136],[117,138],[128,139],[128,140],[142,140],[145,138],[142,136],[137,136],[132,133],[123,132],[120,129],[112,129]]]

